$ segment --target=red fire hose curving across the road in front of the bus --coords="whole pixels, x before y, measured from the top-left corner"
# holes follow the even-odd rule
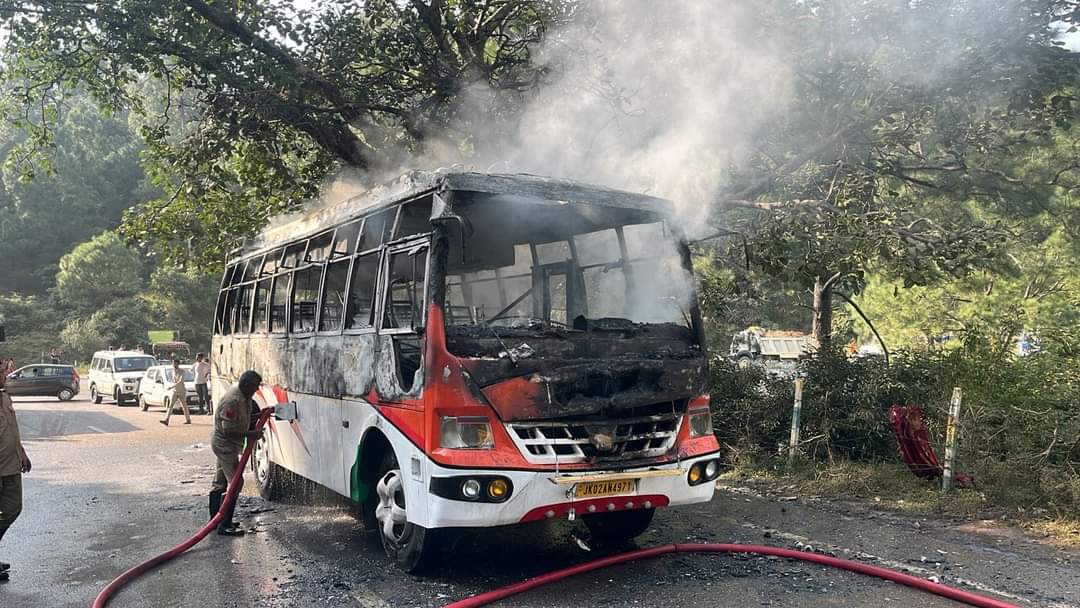
[[[829,557],[827,555],[819,555],[816,553],[807,553],[804,551],[794,551],[791,549],[780,549],[778,546],[762,546],[756,544],[714,544],[714,543],[691,543],[691,544],[664,544],[661,546],[653,546],[650,549],[639,549],[637,551],[630,551],[626,553],[620,553],[618,555],[610,555],[608,557],[602,557],[599,559],[594,559],[592,562],[585,562],[584,564],[578,564],[577,566],[570,566],[569,568],[564,568],[562,570],[555,570],[554,572],[548,572],[540,575],[534,579],[528,579],[518,583],[510,584],[495,591],[489,591],[487,593],[482,593],[480,595],[474,595],[472,597],[467,597],[464,599],[455,602],[453,604],[447,604],[444,608],[474,608],[477,606],[487,606],[500,599],[510,597],[511,595],[516,595],[538,586],[543,586],[563,579],[573,577],[583,572],[589,572],[592,570],[598,570],[600,568],[606,568],[608,566],[615,566],[616,564],[623,564],[625,562],[634,562],[636,559],[643,559],[646,557],[658,557],[660,555],[667,555],[671,553],[755,553],[758,555],[774,555],[777,557],[787,557],[791,559],[802,559],[804,562],[811,562],[813,564],[821,564],[823,566],[831,566],[833,568],[840,568],[842,570],[850,570],[852,572],[859,572],[860,575],[868,575],[870,577],[877,577],[879,579],[885,579],[899,583],[902,585],[907,585],[921,591],[933,593],[942,597],[947,597],[949,599],[955,599],[969,606],[977,606],[980,608],[1017,608],[1013,604],[1007,602],[1001,602],[1000,599],[994,599],[986,597],[984,595],[978,595],[975,593],[970,593],[967,591],[961,591],[959,589],[954,589],[948,585],[943,585],[941,583],[935,583],[933,581],[928,581],[926,579],[920,579],[918,577],[913,577],[910,575],[905,575],[903,572],[897,572],[896,570],[890,570],[888,568],[880,568],[878,566],[870,566],[868,564],[861,564],[859,562],[851,562],[849,559],[840,559],[838,557]]]

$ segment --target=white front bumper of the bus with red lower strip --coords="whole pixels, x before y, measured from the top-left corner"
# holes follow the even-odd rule
[[[416,513],[410,508],[409,519],[414,521],[414,516],[419,515],[414,523],[426,528],[475,528],[543,519],[575,519],[590,514],[707,502],[713,498],[715,482],[691,485],[688,475],[694,464],[716,458],[717,452],[714,452],[677,463],[640,469],[563,474],[552,471],[446,469],[428,461],[430,475],[426,488],[426,513]],[[471,501],[445,498],[433,491],[436,486],[460,487],[460,484],[474,477],[482,481],[492,477],[509,479],[512,487],[510,498],[502,502]],[[627,491],[611,496],[600,492],[602,496],[579,498],[580,485],[620,482],[631,482]],[[443,490],[440,494],[447,492]]]

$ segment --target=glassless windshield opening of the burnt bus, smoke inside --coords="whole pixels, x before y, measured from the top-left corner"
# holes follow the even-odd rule
[[[653,213],[504,197],[455,211],[464,221],[448,229],[447,326],[692,325],[692,276],[677,238]]]

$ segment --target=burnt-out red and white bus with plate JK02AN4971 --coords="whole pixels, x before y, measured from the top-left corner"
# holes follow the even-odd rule
[[[689,251],[667,201],[416,172],[267,228],[228,261],[219,400],[279,408],[262,495],[351,498],[402,568],[442,528],[581,518],[635,537],[712,498],[718,445]]]

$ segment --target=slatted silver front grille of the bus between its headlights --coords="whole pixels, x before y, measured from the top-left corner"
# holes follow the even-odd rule
[[[611,462],[667,454],[681,421],[681,413],[667,411],[603,421],[508,422],[507,432],[534,464]]]

